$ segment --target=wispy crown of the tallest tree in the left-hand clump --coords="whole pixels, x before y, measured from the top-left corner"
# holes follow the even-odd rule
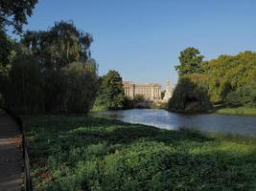
[[[26,32],[21,43],[41,60],[42,67],[60,69],[90,57],[91,34],[80,32],[73,22],[60,21],[47,32]]]

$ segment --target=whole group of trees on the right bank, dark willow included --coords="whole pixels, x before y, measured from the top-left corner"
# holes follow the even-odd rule
[[[200,113],[214,105],[256,107],[256,53],[202,59],[195,48],[180,53],[179,78],[169,110]]]

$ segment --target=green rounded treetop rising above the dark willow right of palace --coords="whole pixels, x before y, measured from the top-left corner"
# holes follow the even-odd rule
[[[202,63],[203,57],[203,55],[199,54],[198,49],[189,47],[180,52],[178,57],[180,65],[175,66],[175,70],[179,76],[200,73],[200,64]]]

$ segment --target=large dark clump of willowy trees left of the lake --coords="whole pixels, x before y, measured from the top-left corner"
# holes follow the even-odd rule
[[[45,32],[26,32],[13,43],[12,61],[0,74],[5,106],[26,114],[87,113],[98,89],[91,42],[90,34],[70,22],[61,21]]]

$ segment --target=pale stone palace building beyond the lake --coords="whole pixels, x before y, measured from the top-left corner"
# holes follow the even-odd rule
[[[123,81],[125,95],[133,98],[136,95],[143,95],[146,99],[161,99],[161,85],[155,83],[135,84],[130,81]]]

